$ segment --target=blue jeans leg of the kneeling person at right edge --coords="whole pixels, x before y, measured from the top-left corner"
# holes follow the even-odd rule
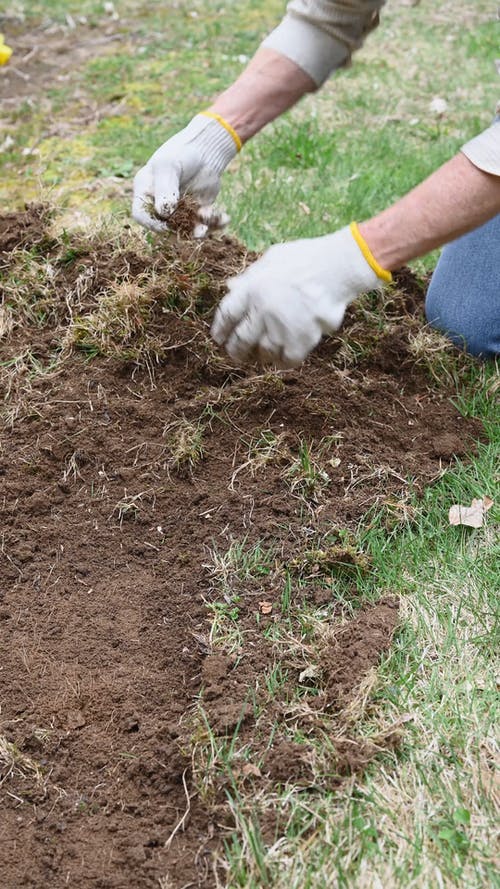
[[[431,327],[472,355],[500,353],[500,215],[444,248],[425,314]]]

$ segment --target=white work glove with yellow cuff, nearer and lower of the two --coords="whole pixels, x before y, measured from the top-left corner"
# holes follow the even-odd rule
[[[390,280],[355,223],[332,235],[278,244],[229,281],[212,336],[235,361],[257,357],[296,367],[324,334],[340,327],[349,303]]]

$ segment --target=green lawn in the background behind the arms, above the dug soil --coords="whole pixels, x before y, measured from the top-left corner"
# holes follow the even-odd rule
[[[15,145],[0,154],[4,202],[21,203],[42,187],[80,212],[83,203],[87,214],[125,215],[133,171],[234,79],[241,58],[251,55],[283,7],[279,0],[244,0],[224,9],[213,0],[175,10],[160,2],[115,5],[120,18],[114,24],[95,2],[45,0],[30,7],[28,25],[64,21],[70,12],[87,16],[87,26],[79,27],[92,26],[96,39],[111,25],[123,39],[97,44],[63,84],[48,84],[6,115]],[[257,248],[327,232],[383,209],[446,160],[493,113],[498,53],[490,19],[486,0],[477,0],[473,12],[467,4],[463,11],[441,4],[439,12],[429,2],[389,4],[354,66],[234,162],[222,193],[234,231]],[[4,30],[8,35],[8,25]],[[89,39],[78,27],[74,34],[68,39]],[[15,36],[11,43],[15,49]],[[442,119],[429,110],[435,95],[449,104]],[[88,114],[89,99],[96,115]],[[20,155],[33,145],[38,155]],[[19,166],[22,180],[14,181]],[[91,182],[97,185],[89,190]]]

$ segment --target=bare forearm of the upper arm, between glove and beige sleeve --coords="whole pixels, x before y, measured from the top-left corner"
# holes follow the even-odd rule
[[[302,68],[275,50],[262,48],[209,110],[227,120],[246,142],[315,89]]]

